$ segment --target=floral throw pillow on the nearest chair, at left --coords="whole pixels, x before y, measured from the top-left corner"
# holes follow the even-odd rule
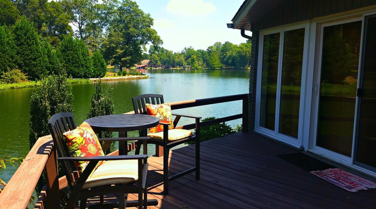
[[[83,122],[76,129],[67,131],[63,135],[72,157],[105,156],[97,135],[87,122]],[[103,161],[99,161],[96,168],[102,163]],[[88,164],[89,161],[74,162],[77,170],[81,172],[83,172]]]

